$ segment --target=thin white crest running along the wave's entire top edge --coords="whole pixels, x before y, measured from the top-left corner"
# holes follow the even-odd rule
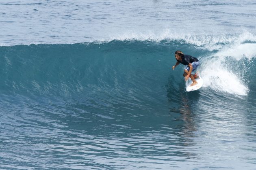
[[[90,40],[77,40],[76,43],[94,43],[94,44],[102,44],[102,43],[109,43],[111,41],[150,41],[154,43],[159,42],[177,42],[181,44],[188,44],[193,45],[200,49],[206,49],[209,51],[220,50],[225,47],[239,45],[243,43],[256,43],[256,33],[244,30],[243,32],[237,32],[232,34],[189,34],[183,32],[173,32],[172,30],[163,30],[162,32],[137,32],[137,31],[126,31],[122,33],[112,34],[109,35],[108,38],[99,38],[93,39],[87,37]],[[15,45],[32,45],[32,44],[42,44],[42,40],[40,41],[33,41],[33,42],[26,42],[26,43],[17,43],[15,42],[14,45],[8,45],[8,43],[0,43],[0,46],[15,46]],[[43,44],[63,44],[61,42],[57,43],[54,42],[47,42]],[[65,44],[74,44],[72,43],[65,43]]]

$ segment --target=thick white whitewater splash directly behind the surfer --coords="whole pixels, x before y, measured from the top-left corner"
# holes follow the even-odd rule
[[[223,45],[217,53],[202,57],[203,87],[229,94],[247,95],[249,88],[246,86],[245,80],[238,76],[247,70],[246,66],[243,65],[244,68],[233,72],[225,65],[225,62],[230,60],[225,59],[232,57],[237,61],[244,58],[252,60],[253,57],[256,57],[255,41],[256,36],[247,32],[233,37],[230,43]]]

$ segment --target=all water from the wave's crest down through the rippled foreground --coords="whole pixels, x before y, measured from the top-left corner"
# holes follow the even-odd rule
[[[249,34],[0,47],[0,167],[253,168]],[[178,49],[200,90],[171,69]]]

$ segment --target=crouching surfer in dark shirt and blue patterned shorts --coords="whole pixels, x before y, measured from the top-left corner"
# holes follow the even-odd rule
[[[185,81],[187,81],[190,77],[190,79],[193,81],[191,86],[196,85],[197,81],[195,79],[198,78],[196,74],[191,74],[192,71],[197,69],[199,66],[199,60],[195,57],[192,57],[191,55],[183,54],[181,51],[175,51],[175,58],[177,60],[176,64],[172,66],[172,69],[176,68],[180,63],[187,66],[184,70],[183,76],[185,77]]]

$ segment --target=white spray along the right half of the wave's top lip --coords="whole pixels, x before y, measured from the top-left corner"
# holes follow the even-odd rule
[[[195,47],[207,49],[209,51],[220,50],[225,47],[230,47],[233,45],[238,45],[246,41],[256,42],[256,33],[243,31],[236,34],[189,34],[173,32],[171,30],[163,30],[162,32],[136,32],[136,31],[126,31],[122,34],[113,34],[109,38],[102,39],[102,41],[111,40],[140,40],[140,41],[155,41],[160,42],[162,40],[169,41],[180,41]]]

